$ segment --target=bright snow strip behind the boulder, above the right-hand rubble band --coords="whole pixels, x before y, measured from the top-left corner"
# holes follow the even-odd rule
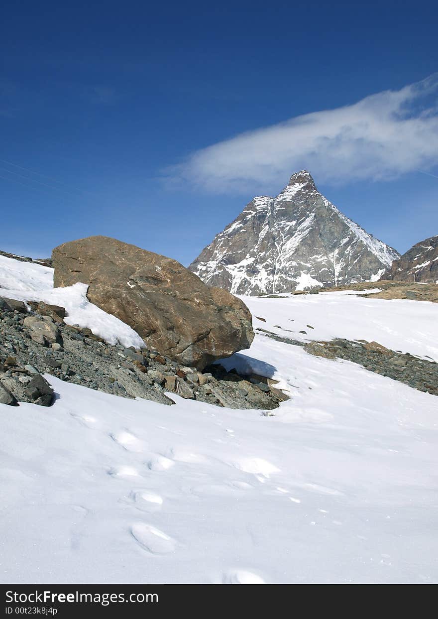
[[[379,288],[364,292],[379,292]],[[239,298],[251,310],[255,328],[277,335],[303,342],[334,337],[374,340],[392,350],[420,357],[429,355],[438,361],[438,306],[434,303],[361,298],[350,291],[288,295],[280,299]],[[310,329],[308,324],[314,328]]]

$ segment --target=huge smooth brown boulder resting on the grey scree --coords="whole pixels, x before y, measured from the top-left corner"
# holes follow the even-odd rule
[[[55,287],[88,284],[92,303],[179,363],[202,369],[254,339],[246,305],[176,260],[107,236],[64,243],[52,258]]]

